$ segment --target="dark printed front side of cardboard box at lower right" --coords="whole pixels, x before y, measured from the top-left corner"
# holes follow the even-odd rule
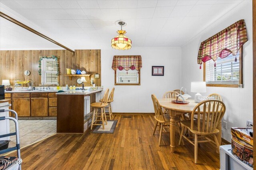
[[[247,145],[244,145],[243,143],[240,143],[239,141],[231,137],[231,150],[232,154],[234,154],[236,158],[253,167],[252,147],[247,147]]]

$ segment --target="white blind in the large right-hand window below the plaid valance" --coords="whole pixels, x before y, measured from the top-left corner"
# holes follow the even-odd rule
[[[239,84],[240,61],[239,52],[236,56],[230,54],[228,57],[206,62],[206,83],[207,84]],[[235,57],[237,61],[235,62]]]

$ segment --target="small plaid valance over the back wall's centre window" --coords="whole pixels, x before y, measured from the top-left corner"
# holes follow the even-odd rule
[[[114,55],[113,57],[113,70],[140,70],[141,67],[142,59],[140,55]]]

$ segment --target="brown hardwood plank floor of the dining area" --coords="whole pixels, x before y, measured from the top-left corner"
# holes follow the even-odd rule
[[[118,120],[113,134],[57,134],[21,150],[22,169],[85,169],[85,170],[161,170],[219,169],[219,155],[214,145],[200,144],[198,164],[194,164],[194,147],[185,142],[170,152],[170,135],[163,134],[158,146],[159,129],[153,136],[152,115],[115,115]],[[15,154],[12,154],[15,155]]]

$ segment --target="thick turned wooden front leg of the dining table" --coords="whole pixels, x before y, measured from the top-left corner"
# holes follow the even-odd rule
[[[171,152],[175,152],[175,116],[176,111],[170,110],[170,147]]]

